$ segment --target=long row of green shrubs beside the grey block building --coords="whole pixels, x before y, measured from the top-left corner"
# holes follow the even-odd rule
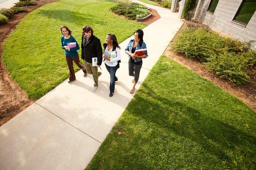
[[[186,57],[200,59],[216,75],[241,84],[249,81],[251,69],[256,68],[256,52],[250,49],[250,44],[204,28],[186,28],[172,47]]]

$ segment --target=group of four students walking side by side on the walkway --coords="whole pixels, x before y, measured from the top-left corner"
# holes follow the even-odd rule
[[[118,81],[116,77],[116,70],[119,68],[119,62],[121,60],[120,55],[120,47],[118,45],[118,41],[114,34],[107,34],[106,43],[103,44],[104,52],[102,54],[102,45],[95,35],[93,35],[93,28],[89,25],[84,25],[82,28],[82,36],[81,36],[81,59],[84,60],[84,64],[82,64],[79,60],[79,54],[77,50],[80,49],[79,44],[76,39],[71,35],[72,31],[70,31],[67,26],[61,26],[61,48],[65,50],[65,56],[67,60],[67,65],[70,71],[69,83],[76,80],[75,71],[73,68],[73,61],[76,65],[81,68],[84,72],[84,77],[87,74],[93,75],[93,91],[96,91],[98,88],[98,79],[102,74],[98,71],[98,67],[102,64],[102,59],[104,58],[106,69],[110,74],[110,94],[109,96],[113,96],[115,90],[115,82]],[[69,47],[68,44],[75,43],[74,47]],[[138,82],[140,76],[140,69],[142,67],[142,59],[148,57],[147,51],[143,55],[136,55],[135,51],[139,49],[145,49],[146,44],[143,41],[143,31],[138,29],[134,32],[134,39],[130,40],[127,47],[125,48],[125,53],[129,56],[128,62],[128,72],[129,75],[133,77],[132,83],[133,87],[131,88],[130,93],[134,93],[135,86]],[[116,51],[116,57],[110,57],[109,54],[113,51]],[[97,63],[93,65],[93,58],[97,58]]]

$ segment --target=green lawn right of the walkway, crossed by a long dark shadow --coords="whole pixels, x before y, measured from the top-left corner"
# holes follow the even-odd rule
[[[174,169],[256,169],[256,114],[162,56],[87,170]]]

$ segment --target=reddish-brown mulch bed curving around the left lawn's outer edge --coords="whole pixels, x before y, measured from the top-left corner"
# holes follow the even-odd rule
[[[13,17],[8,20],[8,23],[0,25],[0,56],[3,53],[3,42],[16,28],[20,20],[36,8],[55,1],[57,0],[37,0],[36,2],[38,4],[36,6],[29,6],[28,11],[14,14]],[[12,80],[0,58],[0,126],[29,107],[33,102],[33,100],[26,97],[26,93]]]

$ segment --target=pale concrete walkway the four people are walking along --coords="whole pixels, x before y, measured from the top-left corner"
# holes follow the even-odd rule
[[[145,5],[156,9],[161,18],[143,29],[148,58],[143,59],[137,89],[183,24],[177,13]],[[80,70],[76,81],[65,80],[0,127],[0,170],[83,170],[87,166],[137,91],[129,93],[132,77],[124,49],[130,39],[120,44],[122,62],[113,97],[108,96],[110,80],[103,63],[95,92],[92,75],[83,77]]]

